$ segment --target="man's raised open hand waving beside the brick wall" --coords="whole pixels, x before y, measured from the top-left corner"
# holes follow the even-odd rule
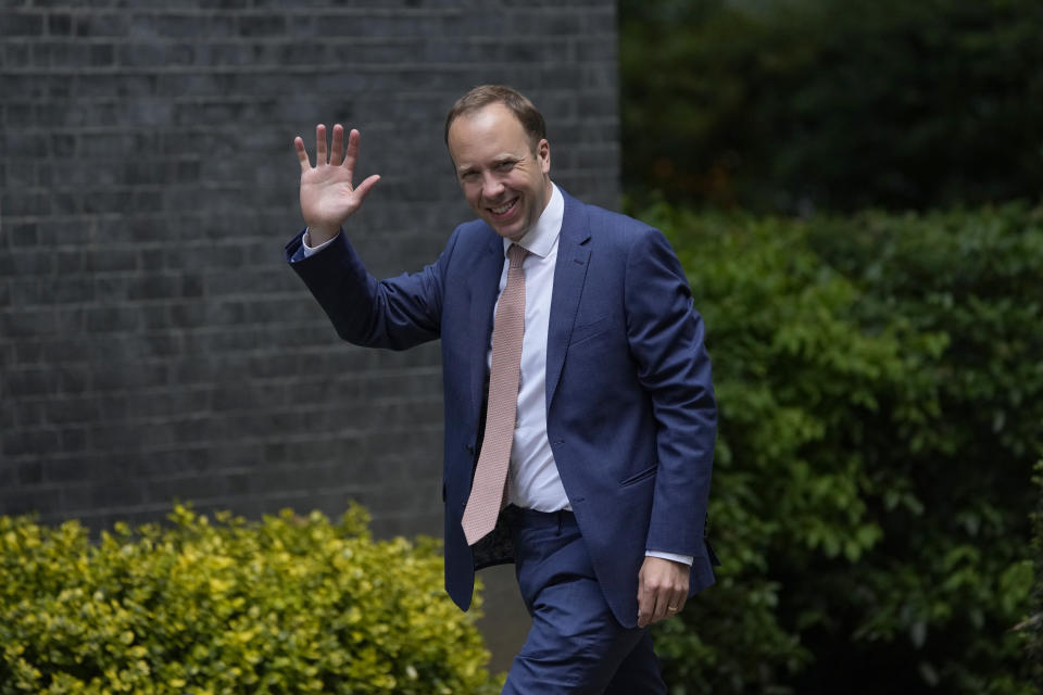
[[[334,143],[326,159],[326,126],[315,126],[315,166],[304,149],[304,140],[293,139],[297,159],[301,162],[301,213],[307,225],[311,244],[318,245],[335,237],[341,225],[365,200],[380,177],[376,174],[359,186],[352,186],[355,160],[359,159],[359,131],[348,135],[344,148],[344,128],[334,126]]]

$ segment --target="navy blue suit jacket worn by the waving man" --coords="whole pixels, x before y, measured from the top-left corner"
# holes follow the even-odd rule
[[[500,529],[475,548],[461,517],[486,401],[503,242],[461,225],[438,261],[379,281],[341,233],[287,260],[352,343],[442,341],[445,589],[466,610],[475,569],[510,561]],[[716,406],[703,323],[663,235],[565,194],[546,349],[546,433],[598,580],[616,619],[637,622],[645,549],[691,555],[691,593],[713,583],[704,539]]]

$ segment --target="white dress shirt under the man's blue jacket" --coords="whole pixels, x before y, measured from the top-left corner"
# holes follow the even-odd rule
[[[525,334],[522,342],[522,374],[518,380],[518,415],[511,447],[511,468],[507,476],[507,495],[512,504],[538,511],[570,509],[568,495],[546,438],[546,337],[551,321],[551,296],[554,291],[554,268],[557,263],[557,242],[562,236],[565,198],[556,185],[546,207],[536,225],[517,242],[529,253],[522,264],[525,274]],[[303,238],[304,255],[325,249],[332,239],[317,247]],[[503,240],[503,270],[500,275],[500,295],[507,286],[507,249]],[[497,296],[499,304],[500,296]],[[486,353],[486,366],[492,361],[492,337]],[[692,557],[674,553],[648,551],[645,555],[671,559],[686,565]]]

